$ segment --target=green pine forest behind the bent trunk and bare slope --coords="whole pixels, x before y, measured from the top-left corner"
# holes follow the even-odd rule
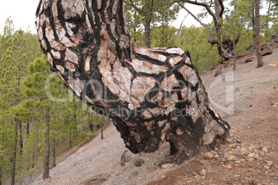
[[[131,37],[142,46],[178,46],[189,50],[193,64],[201,72],[223,58],[216,44],[208,42],[204,26],[172,26],[182,8],[180,2],[127,0]],[[278,33],[278,2],[261,3],[266,10],[260,17],[264,43]],[[213,9],[213,3],[211,6]],[[210,16],[206,10],[196,15],[199,19],[206,16]],[[231,1],[219,22],[223,41],[238,38],[237,53],[254,44],[254,0]],[[207,27],[215,39],[215,23],[212,21]],[[53,72],[46,56],[41,55],[37,35],[15,30],[12,19],[6,19],[0,35],[0,184],[12,181],[13,177],[22,182],[27,175],[41,173],[46,161],[54,167],[57,153],[91,139],[100,125],[102,116],[75,99],[63,82],[50,74]],[[46,90],[64,102],[53,101]],[[49,159],[46,153],[50,154]]]

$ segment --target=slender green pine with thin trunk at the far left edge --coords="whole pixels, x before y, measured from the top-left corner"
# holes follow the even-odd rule
[[[3,104],[3,111],[8,111],[13,106],[17,106],[23,100],[21,94],[21,84],[22,79],[26,75],[26,66],[28,61],[30,61],[32,55],[30,52],[24,53],[22,50],[26,44],[26,40],[23,37],[24,32],[22,30],[18,30],[15,32],[15,35],[11,36],[10,33],[6,33],[8,37],[10,37],[6,41],[6,46],[10,45],[6,51],[1,56],[1,86],[3,91],[1,92],[1,97],[5,101]],[[6,109],[6,110],[5,110]],[[16,171],[16,161],[17,161],[17,140],[20,139],[22,142],[22,136],[18,134],[18,127],[21,124],[21,120],[19,117],[12,117],[14,119],[15,127],[12,128],[14,130],[14,146],[13,146],[13,157],[12,157],[12,169],[11,169],[11,184],[15,184],[15,171]],[[23,145],[21,145],[23,146]],[[22,148],[21,148],[22,150]]]

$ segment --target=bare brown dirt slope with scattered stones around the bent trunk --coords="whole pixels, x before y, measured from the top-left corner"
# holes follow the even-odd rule
[[[255,59],[245,63],[247,57]],[[53,168],[50,179],[39,176],[33,184],[278,184],[278,48],[263,61],[256,68],[252,54],[239,58],[234,72],[227,64],[201,75],[215,109],[232,127],[228,144],[211,151],[212,159],[202,150],[180,166],[158,167],[169,155],[165,144],[156,153],[128,152],[131,161],[122,166],[127,148],[110,124],[103,140],[97,135]],[[222,74],[214,77],[220,66]]]

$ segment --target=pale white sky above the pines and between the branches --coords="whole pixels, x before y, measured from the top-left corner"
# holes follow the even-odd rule
[[[0,0],[0,34],[3,35],[3,28],[5,26],[5,21],[10,16],[15,25],[15,30],[19,30],[19,28],[23,30],[29,29],[31,32],[36,33],[35,29],[35,12],[37,10],[37,6],[39,4],[39,0]],[[198,12],[198,7],[194,6],[193,9],[188,7],[189,10],[196,10]],[[185,10],[181,10],[178,14],[178,18],[172,24],[176,28],[180,27],[181,21],[183,21],[185,15],[187,13]],[[205,23],[211,21],[211,19],[205,20]],[[200,26],[200,24],[195,21],[190,15],[187,16],[186,20],[183,21],[183,25],[189,26]]]

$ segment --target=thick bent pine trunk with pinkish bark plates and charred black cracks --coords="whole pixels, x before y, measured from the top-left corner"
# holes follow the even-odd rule
[[[37,32],[50,68],[113,119],[131,152],[151,153],[169,142],[167,162],[180,164],[228,135],[189,54],[132,42],[123,0],[41,0]]]

